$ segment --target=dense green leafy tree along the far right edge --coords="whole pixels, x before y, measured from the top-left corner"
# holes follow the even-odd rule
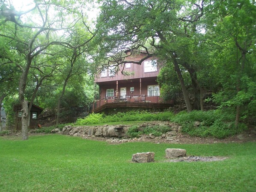
[[[214,98],[230,112],[235,109],[238,128],[241,115],[245,119],[255,114],[256,4],[249,0],[220,1],[209,6],[209,13],[207,35],[214,49],[214,74],[222,87]]]

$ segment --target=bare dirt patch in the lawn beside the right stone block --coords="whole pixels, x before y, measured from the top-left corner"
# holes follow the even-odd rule
[[[227,157],[200,157],[200,156],[190,156],[190,157],[179,157],[175,159],[167,159],[164,162],[211,162],[211,161],[223,161]]]

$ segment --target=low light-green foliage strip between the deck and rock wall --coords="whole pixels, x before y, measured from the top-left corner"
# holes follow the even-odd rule
[[[173,112],[147,112],[147,111],[128,111],[117,112],[113,115],[105,115],[104,113],[92,113],[84,119],[77,119],[77,125],[97,124],[117,121],[170,121]]]

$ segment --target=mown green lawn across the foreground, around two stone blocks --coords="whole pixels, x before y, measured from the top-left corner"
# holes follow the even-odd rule
[[[166,148],[217,162],[164,162]],[[137,152],[155,162],[132,163]],[[255,192],[256,143],[110,145],[63,135],[0,137],[1,192]]]

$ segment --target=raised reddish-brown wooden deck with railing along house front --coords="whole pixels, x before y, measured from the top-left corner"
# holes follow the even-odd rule
[[[170,106],[173,106],[173,100],[165,102],[159,96],[125,95],[98,100],[97,103],[95,103],[93,112],[97,113],[105,109],[116,108],[166,109]]]

